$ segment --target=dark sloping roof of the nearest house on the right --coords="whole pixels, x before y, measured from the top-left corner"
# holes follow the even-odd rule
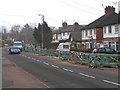
[[[107,15],[103,15],[87,26],[83,27],[81,30],[92,29],[92,28],[101,28],[107,25],[118,24],[118,14],[115,12],[111,12]]]

